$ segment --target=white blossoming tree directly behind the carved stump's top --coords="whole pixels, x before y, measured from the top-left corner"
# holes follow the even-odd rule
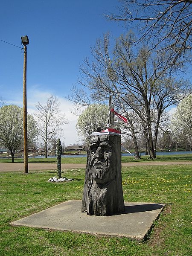
[[[103,104],[93,104],[88,106],[77,120],[77,131],[84,141],[89,143],[91,133],[96,128],[105,128],[108,124],[109,108]]]

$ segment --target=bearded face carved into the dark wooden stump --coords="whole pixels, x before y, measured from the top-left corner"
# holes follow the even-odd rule
[[[112,161],[113,143],[98,136],[98,140],[90,144],[90,172],[96,183],[106,184],[115,179]]]

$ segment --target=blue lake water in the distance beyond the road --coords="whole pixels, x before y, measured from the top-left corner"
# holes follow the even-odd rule
[[[166,152],[156,152],[157,156],[161,155],[172,155],[172,154],[192,154],[192,151],[166,151]],[[134,154],[133,154],[134,155]],[[140,153],[141,156],[145,155],[144,152]],[[131,156],[129,153],[123,153],[123,157]],[[44,158],[45,156],[35,156],[35,158]],[[54,158],[56,156],[48,156],[48,158]],[[64,155],[63,157],[87,157],[87,154],[76,154],[76,155]],[[29,158],[33,158],[33,156],[30,156]]]

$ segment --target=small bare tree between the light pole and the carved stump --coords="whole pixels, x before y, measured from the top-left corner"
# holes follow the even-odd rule
[[[39,136],[44,141],[46,158],[47,143],[49,143],[55,135],[61,137],[63,125],[68,123],[65,115],[61,114],[59,105],[58,98],[53,95],[48,97],[46,105],[42,105],[40,102],[38,102],[38,105],[35,105],[38,112],[34,114],[38,118]]]

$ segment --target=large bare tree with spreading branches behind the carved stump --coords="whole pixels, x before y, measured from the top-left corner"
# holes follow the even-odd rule
[[[187,84],[176,82],[172,68],[166,65],[169,51],[165,56],[154,54],[144,46],[133,47],[132,38],[132,34],[121,36],[116,40],[113,51],[109,35],[105,35],[103,40],[98,39],[96,47],[92,48],[94,61],[90,62],[86,58],[81,65],[82,79],[79,83],[90,90],[90,97],[95,101],[108,100],[108,96],[113,95],[115,107],[128,119],[138,152],[130,110],[134,111],[146,132],[149,155],[155,158],[153,123],[157,136],[160,116],[170,105],[183,99]],[[80,97],[76,98],[76,102],[82,103]]]

